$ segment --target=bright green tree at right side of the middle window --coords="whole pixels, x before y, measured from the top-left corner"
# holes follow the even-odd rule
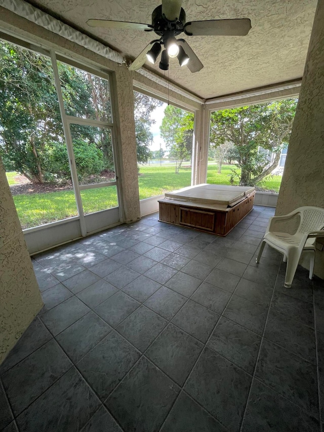
[[[182,162],[191,159],[193,114],[168,105],[164,111],[160,132],[169,149],[169,158],[176,161],[176,174],[178,174]]]

